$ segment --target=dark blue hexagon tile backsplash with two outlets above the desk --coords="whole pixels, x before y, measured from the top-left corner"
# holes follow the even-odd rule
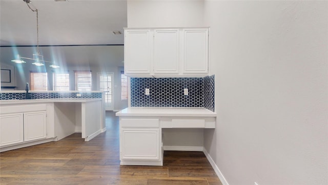
[[[150,94],[145,95],[145,89]],[[184,89],[188,88],[188,95]],[[205,107],[214,112],[214,75],[204,78],[131,78],[133,107]]]

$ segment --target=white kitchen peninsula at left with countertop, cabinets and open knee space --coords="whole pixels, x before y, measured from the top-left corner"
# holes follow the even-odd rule
[[[105,132],[103,99],[0,101],[0,151],[57,141],[81,132],[89,141]]]

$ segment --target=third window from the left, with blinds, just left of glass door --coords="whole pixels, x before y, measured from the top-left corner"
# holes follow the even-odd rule
[[[91,71],[74,71],[75,90],[91,90]]]

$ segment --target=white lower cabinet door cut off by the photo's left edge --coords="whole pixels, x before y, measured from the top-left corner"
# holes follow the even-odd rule
[[[23,113],[0,115],[0,146],[24,142]]]

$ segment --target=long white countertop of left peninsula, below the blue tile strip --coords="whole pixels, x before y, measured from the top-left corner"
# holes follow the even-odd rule
[[[33,99],[33,100],[0,100],[0,105],[19,104],[19,103],[51,103],[51,102],[92,102],[102,101],[101,98],[52,98],[52,99]]]

